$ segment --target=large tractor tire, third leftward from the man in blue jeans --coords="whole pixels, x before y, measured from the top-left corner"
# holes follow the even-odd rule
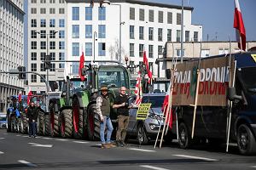
[[[61,137],[62,138],[72,138],[72,110],[67,109],[61,111],[60,115],[60,127],[61,127]]]

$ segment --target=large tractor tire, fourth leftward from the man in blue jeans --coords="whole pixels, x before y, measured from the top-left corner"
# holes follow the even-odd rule
[[[55,113],[55,105],[51,103],[49,105],[49,135],[51,137],[59,137],[59,116]]]

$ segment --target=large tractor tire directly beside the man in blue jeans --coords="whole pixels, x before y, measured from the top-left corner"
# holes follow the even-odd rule
[[[96,104],[89,106],[87,115],[87,133],[90,140],[100,139],[100,117],[96,113]]]

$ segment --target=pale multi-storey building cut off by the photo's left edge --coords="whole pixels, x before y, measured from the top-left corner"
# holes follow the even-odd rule
[[[0,1],[0,71],[24,65],[24,1]],[[0,73],[0,112],[7,110],[7,97],[18,95],[23,81]]]

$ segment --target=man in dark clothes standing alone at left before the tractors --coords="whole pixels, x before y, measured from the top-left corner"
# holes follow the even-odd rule
[[[31,137],[31,135],[36,138],[36,121],[38,120],[38,111],[36,106],[34,105],[34,102],[32,101],[27,109],[27,120],[29,123],[29,132],[28,135]]]

